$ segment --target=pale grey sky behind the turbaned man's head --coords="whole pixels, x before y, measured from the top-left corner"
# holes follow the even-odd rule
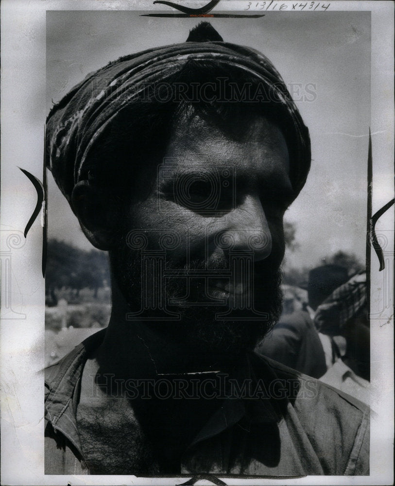
[[[47,12],[47,113],[87,73],[121,55],[183,42],[197,18],[141,17],[133,11]],[[225,41],[274,63],[309,127],[308,181],[285,214],[296,227],[290,266],[315,266],[343,250],[365,258],[370,125],[370,12],[267,12],[212,18]],[[49,174],[49,237],[90,249]]]

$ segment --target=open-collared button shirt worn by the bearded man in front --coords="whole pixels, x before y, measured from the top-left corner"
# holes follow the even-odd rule
[[[89,337],[46,370],[46,474],[98,473],[83,452],[77,407],[88,353],[100,346],[104,333],[102,330]],[[251,354],[248,364],[250,374],[245,382],[252,394],[223,399],[184,452],[177,473],[369,474],[367,406],[273,360]],[[117,418],[115,434],[131,422],[136,433],[141,432],[133,414],[132,405]],[[128,447],[125,435],[117,444],[125,459],[118,463],[118,469],[102,474],[161,475],[154,461],[151,470],[128,469],[127,454],[133,457],[133,447]],[[106,446],[103,444],[103,449]],[[116,455],[117,450],[113,453]]]

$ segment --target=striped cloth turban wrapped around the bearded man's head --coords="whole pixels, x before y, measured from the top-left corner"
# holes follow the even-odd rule
[[[240,69],[271,90],[294,128],[291,140],[284,135],[294,154],[290,163],[295,195],[300,191],[310,167],[309,131],[280,74],[258,51],[223,41],[205,40],[187,41],[122,57],[88,74],[52,107],[46,126],[46,164],[69,202],[75,184],[88,178],[89,153],[100,141],[106,127],[116,120],[122,109],[136,102],[144,86],[165,82],[189,60],[215,62],[223,69]]]

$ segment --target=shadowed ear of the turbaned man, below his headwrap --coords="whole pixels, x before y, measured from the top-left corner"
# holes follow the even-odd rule
[[[71,194],[71,207],[86,238],[99,250],[110,250],[119,234],[120,203],[102,187],[80,181]]]

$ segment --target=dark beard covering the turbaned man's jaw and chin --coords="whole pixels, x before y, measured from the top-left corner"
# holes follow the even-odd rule
[[[112,274],[130,308],[137,312],[142,308],[141,285],[144,285],[141,270],[141,253],[133,252],[123,247],[110,255]],[[155,328],[157,332],[166,333],[180,344],[183,349],[193,349],[194,353],[212,354],[218,360],[237,359],[246,351],[253,350],[259,341],[273,328],[281,313],[281,272],[270,257],[253,265],[253,299],[252,309],[230,310],[232,295],[223,299],[223,303],[216,303],[205,292],[205,278],[193,278],[190,292],[186,296],[186,276],[188,270],[203,270],[205,262],[193,260],[189,268],[177,265],[175,261],[166,262],[166,271],[172,270],[172,278],[155,281],[150,286],[149,294],[162,295],[162,302],[166,303],[166,311],[173,313],[173,318],[163,319],[163,310],[148,309],[136,315],[136,319],[144,319],[147,326]],[[229,269],[229,261],[225,258],[209,262],[209,271],[221,272]],[[149,278],[153,277],[149,272]],[[146,282],[145,282],[146,283]],[[183,298],[184,297],[184,298]],[[211,301],[209,304],[202,302]],[[233,306],[235,307],[235,306]],[[266,315],[263,315],[266,314]],[[178,319],[177,319],[178,317]],[[130,321],[133,325],[133,319]]]

